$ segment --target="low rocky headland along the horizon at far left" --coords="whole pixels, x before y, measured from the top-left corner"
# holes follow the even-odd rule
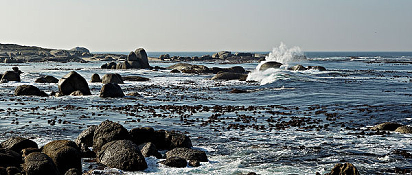
[[[89,50],[84,47],[63,50],[17,44],[0,44],[0,61],[4,63],[84,61],[81,57],[91,55]]]

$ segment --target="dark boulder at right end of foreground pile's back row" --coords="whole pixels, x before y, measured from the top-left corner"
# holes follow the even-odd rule
[[[185,134],[173,131],[166,131],[165,138],[166,145],[168,145],[168,149],[173,149],[175,147],[192,147],[190,138]]]

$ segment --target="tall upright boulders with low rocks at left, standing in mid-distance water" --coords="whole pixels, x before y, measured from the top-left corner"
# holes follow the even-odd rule
[[[130,51],[126,60],[123,62],[109,62],[100,66],[106,69],[129,69],[129,68],[150,68],[147,59],[147,53],[143,48],[137,48],[135,51]]]

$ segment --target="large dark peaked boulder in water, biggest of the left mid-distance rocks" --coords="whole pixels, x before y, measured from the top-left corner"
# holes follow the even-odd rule
[[[86,79],[75,71],[71,71],[58,80],[58,90],[62,95],[80,90],[83,95],[91,95]]]

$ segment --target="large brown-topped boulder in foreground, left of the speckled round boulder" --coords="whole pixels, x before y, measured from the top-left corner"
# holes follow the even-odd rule
[[[73,141],[50,141],[43,146],[42,151],[53,160],[60,172],[66,172],[70,168],[81,169],[80,151]]]

